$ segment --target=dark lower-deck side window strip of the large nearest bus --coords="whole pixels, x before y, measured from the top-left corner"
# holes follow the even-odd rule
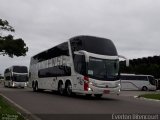
[[[38,77],[57,77],[57,76],[70,76],[71,68],[68,66],[54,66],[38,71]]]

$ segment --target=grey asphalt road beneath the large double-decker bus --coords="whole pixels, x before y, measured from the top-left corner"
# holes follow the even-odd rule
[[[122,91],[120,96],[105,95],[96,99],[82,95],[60,96],[51,91],[32,92],[30,88],[4,88],[0,85],[0,93],[42,120],[58,119],[57,116],[63,119],[85,116],[90,120],[103,115],[101,119],[112,118],[113,114],[160,114],[160,101],[133,97],[144,93],[140,91]]]

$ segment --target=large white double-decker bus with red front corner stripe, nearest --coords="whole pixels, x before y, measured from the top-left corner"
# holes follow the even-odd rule
[[[76,36],[31,58],[33,91],[94,95],[120,92],[119,56],[111,40]]]

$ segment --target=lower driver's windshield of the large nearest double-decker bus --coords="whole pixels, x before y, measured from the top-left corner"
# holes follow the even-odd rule
[[[103,81],[113,81],[118,79],[118,60],[107,60],[99,58],[89,58],[88,76]]]

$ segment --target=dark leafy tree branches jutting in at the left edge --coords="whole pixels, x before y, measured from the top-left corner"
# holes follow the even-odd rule
[[[0,55],[8,55],[9,57],[25,56],[26,52],[28,52],[28,47],[24,40],[22,38],[14,39],[11,34],[3,36],[3,31],[15,32],[7,20],[0,19]]]

